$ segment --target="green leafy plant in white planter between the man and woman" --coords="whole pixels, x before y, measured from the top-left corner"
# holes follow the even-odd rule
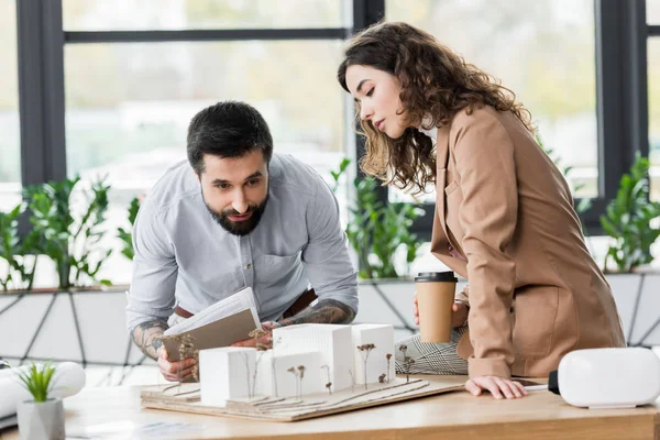
[[[331,172],[334,191],[344,182],[350,163],[344,158]],[[355,199],[349,207],[351,218],[345,233],[359,262],[361,302],[381,302],[385,308],[378,307],[374,312],[376,308],[361,307],[355,321],[392,323],[396,330],[415,333],[415,286],[408,273],[422,242],[410,229],[424,211],[411,204],[383,204],[376,196],[378,185],[369,177],[353,180]],[[396,256],[403,263],[400,271],[396,267]]]

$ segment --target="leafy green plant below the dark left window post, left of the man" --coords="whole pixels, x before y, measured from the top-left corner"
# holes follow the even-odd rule
[[[72,193],[79,182],[80,177],[75,177],[25,188],[32,210],[30,221],[40,237],[40,251],[55,262],[59,288],[80,285],[82,275],[92,282],[110,284],[107,279],[97,279],[99,270],[112,253],[111,249],[98,245],[106,233],[102,224],[110,186],[105,179],[92,183],[89,190],[82,191],[81,216],[74,217]]]

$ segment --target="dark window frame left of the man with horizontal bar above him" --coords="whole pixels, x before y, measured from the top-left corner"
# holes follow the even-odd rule
[[[67,44],[343,41],[351,33],[350,28],[65,31],[62,0],[16,0],[16,20],[23,186],[67,176],[64,78]]]

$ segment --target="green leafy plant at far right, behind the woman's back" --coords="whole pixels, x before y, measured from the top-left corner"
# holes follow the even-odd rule
[[[603,270],[607,271],[609,258],[618,272],[632,272],[637,266],[653,261],[651,244],[660,235],[660,229],[651,227],[651,220],[660,217],[660,204],[649,201],[649,160],[638,153],[630,173],[619,182],[616,198],[601,216],[601,226],[613,243],[607,250]]]

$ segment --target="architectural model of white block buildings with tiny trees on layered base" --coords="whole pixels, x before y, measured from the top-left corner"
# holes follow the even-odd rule
[[[250,337],[256,342],[264,333]],[[157,385],[140,396],[147,408],[297,421],[463,389],[461,376],[427,380],[407,370],[396,377],[394,354],[388,324],[283,327],[273,331],[271,350],[200,350],[200,383]]]

